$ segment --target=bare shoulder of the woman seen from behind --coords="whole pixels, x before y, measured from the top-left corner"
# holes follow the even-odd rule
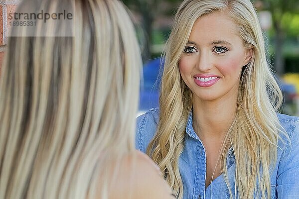
[[[160,171],[142,152],[124,158],[111,199],[174,199]]]

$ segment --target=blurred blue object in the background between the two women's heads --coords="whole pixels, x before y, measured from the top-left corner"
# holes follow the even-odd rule
[[[143,80],[140,88],[139,111],[159,106],[160,58],[149,60],[143,67]],[[162,68],[163,68],[162,62]],[[162,71],[162,70],[161,70]]]

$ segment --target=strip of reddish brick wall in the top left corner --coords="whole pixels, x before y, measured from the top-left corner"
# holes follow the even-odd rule
[[[9,30],[8,13],[13,13],[20,0],[0,0],[0,68],[2,65],[5,45],[7,44],[7,34]]]

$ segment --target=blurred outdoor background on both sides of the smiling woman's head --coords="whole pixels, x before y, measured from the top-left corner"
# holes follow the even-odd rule
[[[182,0],[123,0],[132,12],[143,55],[139,114],[158,107],[161,53]],[[299,0],[252,0],[266,39],[268,61],[284,94],[280,112],[299,116]],[[161,67],[160,67],[161,66]]]

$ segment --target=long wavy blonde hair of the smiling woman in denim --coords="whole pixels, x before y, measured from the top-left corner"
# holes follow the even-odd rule
[[[221,169],[230,187],[226,158],[232,148],[236,160],[235,189],[239,198],[253,199],[256,192],[263,199],[270,199],[271,165],[276,162],[277,143],[281,139],[276,111],[282,103],[282,93],[267,63],[263,34],[250,0],[182,2],[166,44],[159,123],[147,153],[159,165],[166,181],[181,199],[183,186],[178,161],[184,147],[187,119],[192,110],[192,93],[180,76],[178,61],[195,21],[217,11],[228,13],[238,28],[245,48],[253,50],[250,63],[242,71],[236,117],[222,146]]]

